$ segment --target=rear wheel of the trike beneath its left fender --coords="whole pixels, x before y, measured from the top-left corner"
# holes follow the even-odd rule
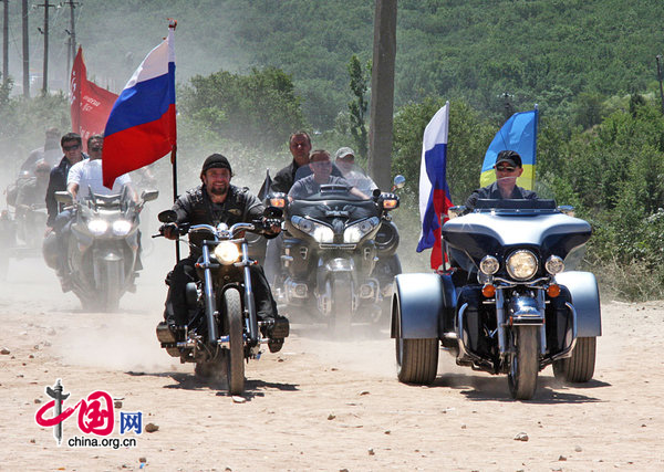
[[[438,371],[438,339],[404,339],[401,326],[401,306],[394,300],[396,333],[396,376],[404,384],[428,385]]]

